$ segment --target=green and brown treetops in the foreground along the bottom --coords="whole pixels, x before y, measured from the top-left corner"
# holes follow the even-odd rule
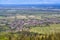
[[[16,32],[0,35],[0,40],[60,40],[59,37],[60,33],[46,35],[29,32]]]

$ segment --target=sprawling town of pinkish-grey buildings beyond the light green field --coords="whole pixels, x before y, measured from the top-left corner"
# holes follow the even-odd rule
[[[31,26],[47,26],[49,24],[59,24],[59,18],[44,18],[44,19],[20,19],[13,21],[9,26],[11,29],[22,30],[24,27]]]

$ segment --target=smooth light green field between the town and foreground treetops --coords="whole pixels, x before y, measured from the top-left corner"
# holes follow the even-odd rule
[[[31,27],[30,32],[51,34],[53,32],[58,33],[60,31],[60,24],[51,24],[50,27]]]

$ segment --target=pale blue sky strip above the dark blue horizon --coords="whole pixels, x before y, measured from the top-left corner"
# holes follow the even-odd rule
[[[0,0],[0,4],[58,4],[60,0]]]

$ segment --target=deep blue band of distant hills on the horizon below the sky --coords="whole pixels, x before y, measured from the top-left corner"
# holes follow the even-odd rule
[[[60,9],[60,4],[0,4],[1,8],[50,8]]]

